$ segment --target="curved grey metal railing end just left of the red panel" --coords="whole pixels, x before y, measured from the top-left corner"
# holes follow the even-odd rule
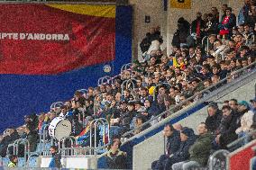
[[[215,170],[215,169],[223,169],[224,167],[227,166],[227,156],[229,155],[229,151],[228,150],[217,150],[215,151],[215,153],[209,158],[209,170]],[[224,157],[225,160],[222,160],[219,157]],[[223,162],[224,161],[224,165]],[[219,162],[217,164],[217,162]],[[215,167],[218,166],[218,167]]]

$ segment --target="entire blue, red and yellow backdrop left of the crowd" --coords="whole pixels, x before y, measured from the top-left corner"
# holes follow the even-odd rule
[[[0,132],[132,58],[131,6],[0,4]],[[107,68],[107,69],[105,69]]]

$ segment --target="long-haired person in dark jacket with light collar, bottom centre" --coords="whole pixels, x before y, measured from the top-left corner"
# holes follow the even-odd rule
[[[121,142],[119,140],[113,140],[110,145],[110,149],[105,155],[105,162],[108,169],[126,169],[126,153],[119,148]]]

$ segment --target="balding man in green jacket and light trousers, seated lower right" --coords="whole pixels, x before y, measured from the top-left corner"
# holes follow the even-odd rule
[[[208,132],[205,123],[200,123],[197,127],[197,131],[198,138],[194,145],[189,148],[189,159],[174,164],[172,166],[172,170],[188,170],[193,168],[197,169],[198,167],[207,165],[214,136]]]

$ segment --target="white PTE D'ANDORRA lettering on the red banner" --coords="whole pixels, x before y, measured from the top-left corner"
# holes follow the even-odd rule
[[[69,34],[61,33],[10,33],[0,32],[0,40],[69,40]]]

